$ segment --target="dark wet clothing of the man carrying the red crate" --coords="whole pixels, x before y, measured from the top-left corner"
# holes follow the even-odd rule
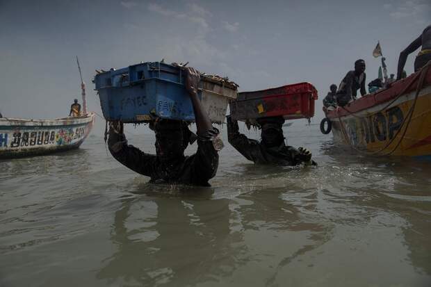
[[[238,122],[227,117],[227,140],[247,160],[254,163],[272,163],[277,165],[298,165],[303,161],[300,152],[294,147],[284,145],[279,147],[265,147],[257,140],[250,140],[239,133]]]

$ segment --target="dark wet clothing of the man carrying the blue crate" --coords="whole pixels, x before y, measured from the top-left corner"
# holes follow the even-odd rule
[[[140,149],[127,145],[124,134],[109,131],[108,148],[113,157],[134,172],[151,177],[153,183],[183,183],[195,186],[210,186],[209,179],[218,168],[218,152],[213,140],[218,130],[206,131],[197,138],[197,151],[192,156],[180,156],[175,161],[162,161],[156,155],[145,154]]]

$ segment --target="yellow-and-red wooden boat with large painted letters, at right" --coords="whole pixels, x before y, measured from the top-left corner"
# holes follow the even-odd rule
[[[334,141],[362,154],[431,156],[430,66],[344,107],[323,108]]]

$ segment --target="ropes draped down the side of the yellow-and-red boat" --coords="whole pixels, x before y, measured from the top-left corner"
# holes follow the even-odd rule
[[[426,76],[426,74],[427,74],[428,69],[429,69],[430,66],[431,66],[431,61],[429,61],[425,66],[423,66],[423,68],[421,69],[421,72],[418,73],[418,74],[416,74],[416,76],[414,76],[414,79],[412,79],[412,81],[409,83],[409,85],[407,85],[406,88],[404,88],[402,90],[402,92],[400,92],[400,95],[398,95],[395,99],[393,99],[387,106],[385,106],[384,108],[382,108],[382,110],[384,110],[384,109],[388,108],[389,106],[391,106],[391,104],[393,104],[396,101],[396,99],[398,99],[399,97],[401,97],[402,94],[407,90],[407,88],[409,88],[412,85],[412,83],[414,83],[414,81],[416,81],[416,79],[419,78],[419,80],[418,80],[418,86],[416,87],[416,94],[414,96],[414,101],[413,101],[413,104],[412,104],[411,108],[409,109],[409,113],[407,113],[407,117],[405,117],[404,120],[402,120],[402,124],[400,126],[400,129],[398,129],[396,131],[395,136],[393,136],[393,138],[391,140],[389,140],[389,142],[387,142],[387,144],[384,145],[384,147],[382,147],[381,149],[379,149],[377,151],[364,151],[364,150],[361,150],[361,149],[357,149],[354,145],[352,145],[352,142],[350,142],[350,139],[348,138],[347,131],[345,130],[345,126],[343,124],[343,121],[341,120],[341,117],[340,117],[338,109],[337,109],[337,116],[339,118],[339,122],[340,122],[340,126],[341,126],[341,131],[343,133],[345,141],[348,142],[348,144],[350,145],[350,147],[352,147],[352,149],[355,149],[356,151],[359,151],[360,153],[367,154],[367,155],[379,154],[380,152],[384,151],[384,149],[387,149],[387,147],[389,147],[393,143],[393,141],[398,137],[398,134],[402,130],[402,127],[404,126],[404,124],[407,123],[406,126],[405,126],[405,129],[404,129],[404,131],[402,133],[402,136],[400,136],[400,140],[398,140],[398,143],[396,144],[396,146],[391,151],[389,151],[389,153],[382,154],[382,155],[383,156],[389,156],[389,155],[393,154],[393,152],[396,151],[396,149],[398,149],[398,147],[400,146],[400,143],[402,142],[402,140],[405,137],[405,133],[407,132],[409,124],[412,121],[412,116],[413,116],[414,108],[416,106],[416,101],[417,101],[417,99],[419,97],[419,92],[421,92],[421,90],[423,88],[423,83],[425,82],[425,76]],[[382,110],[380,110],[377,113],[382,112]],[[350,113],[350,111],[348,111],[348,112]],[[353,116],[355,116],[355,117],[361,118],[361,117],[359,117],[357,115],[354,115],[353,113],[350,113],[350,114],[353,115]],[[406,122],[406,120],[407,120],[407,122]]]

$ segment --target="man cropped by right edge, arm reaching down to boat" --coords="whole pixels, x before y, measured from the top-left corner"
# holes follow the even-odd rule
[[[418,56],[414,60],[414,72],[418,72],[421,67],[425,66],[428,61],[431,60],[431,25],[423,30],[422,34],[419,35],[412,43],[407,46],[400,53],[400,58],[398,58],[398,70],[396,74],[396,79],[402,79],[402,69],[404,69],[405,61],[407,60],[407,56],[412,54],[416,49],[422,46],[421,51],[419,51]]]

